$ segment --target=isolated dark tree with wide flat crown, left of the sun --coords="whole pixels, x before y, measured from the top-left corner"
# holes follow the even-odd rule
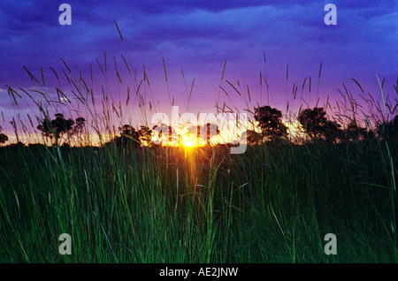
[[[83,127],[86,125],[84,118],[76,118],[75,121],[72,118],[65,119],[64,114],[56,113],[55,119],[51,120],[49,117],[45,117],[41,124],[37,126],[37,129],[42,131],[42,135],[50,139],[55,139],[55,144],[59,145],[60,140],[66,134],[73,135],[74,133],[81,133]],[[73,126],[74,125],[74,126]]]

